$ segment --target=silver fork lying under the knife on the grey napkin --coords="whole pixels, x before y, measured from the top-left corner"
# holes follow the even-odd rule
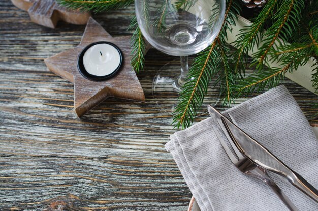
[[[238,126],[236,121],[233,119],[233,117],[230,114],[229,114],[229,116],[230,116],[232,123],[235,124],[236,126]],[[266,173],[266,169],[257,165],[256,163],[253,163],[249,158],[245,157],[244,154],[242,154],[240,152],[240,149],[232,141],[231,137],[229,136],[229,133],[227,132],[227,130],[225,128],[226,123],[225,123],[225,120],[223,119],[223,117],[218,119],[217,122],[218,122],[221,130],[223,131],[223,133],[226,135],[226,137],[227,137],[229,143],[231,144],[238,159],[233,155],[230,148],[226,144],[226,141],[222,138],[221,134],[218,132],[218,129],[214,125],[212,125],[213,130],[215,131],[217,138],[219,139],[225,152],[227,153],[227,155],[230,158],[230,160],[232,161],[232,163],[236,166],[236,168],[244,174],[261,179],[264,183],[266,183],[275,192],[275,194],[282,200],[282,202],[290,210],[292,210],[292,211],[298,210],[297,207],[289,200],[289,198],[276,185],[276,183],[269,177],[269,175]]]

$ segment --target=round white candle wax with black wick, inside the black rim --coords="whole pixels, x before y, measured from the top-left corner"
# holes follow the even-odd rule
[[[83,65],[87,73],[105,76],[113,73],[121,61],[118,50],[107,43],[91,46],[84,53]]]

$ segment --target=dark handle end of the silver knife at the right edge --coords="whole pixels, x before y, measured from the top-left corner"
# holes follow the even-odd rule
[[[301,175],[296,172],[293,173],[296,176],[294,186],[318,205],[318,190],[310,185]]]

